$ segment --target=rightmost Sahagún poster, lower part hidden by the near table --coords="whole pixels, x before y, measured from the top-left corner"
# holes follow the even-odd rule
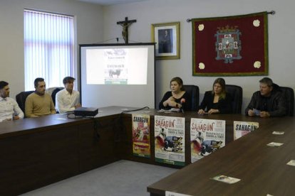
[[[258,122],[234,121],[234,140],[259,128]]]

